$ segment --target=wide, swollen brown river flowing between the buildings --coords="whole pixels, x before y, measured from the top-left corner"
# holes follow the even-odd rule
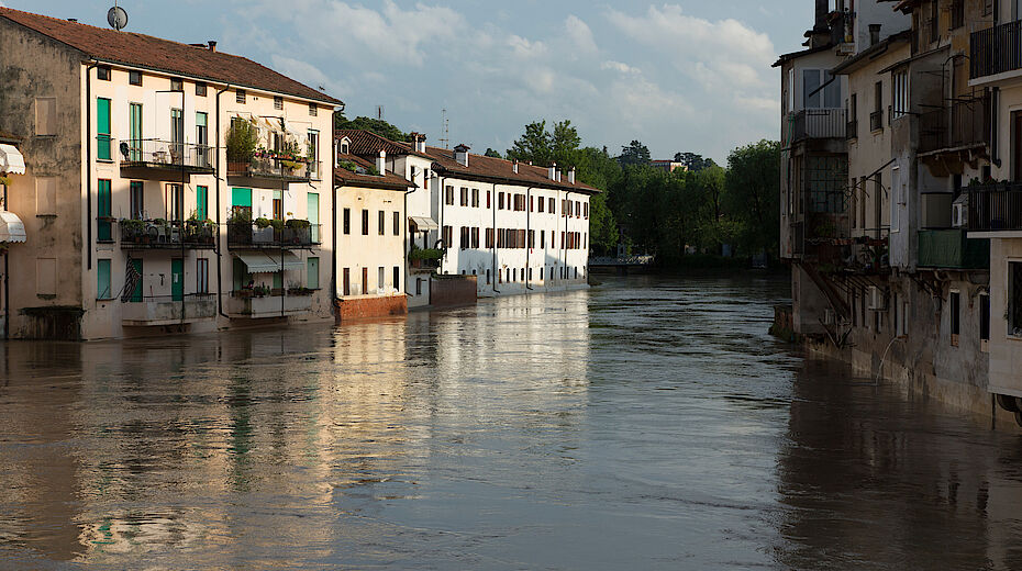
[[[1022,567],[1022,436],[803,359],[787,294],[0,344],[0,569]]]

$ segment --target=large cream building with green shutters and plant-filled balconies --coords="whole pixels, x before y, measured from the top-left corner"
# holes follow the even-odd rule
[[[331,317],[324,144],[340,101],[215,42],[2,8],[0,72],[0,124],[27,166],[10,186],[27,233],[11,250],[11,336]],[[251,146],[229,148],[232,128]]]

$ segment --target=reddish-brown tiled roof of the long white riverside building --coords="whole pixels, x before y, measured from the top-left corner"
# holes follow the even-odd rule
[[[426,147],[426,155],[433,157],[433,170],[445,172],[447,176],[488,182],[512,182],[529,187],[573,190],[589,194],[600,192],[599,189],[584,184],[578,179],[573,184],[568,182],[567,176],[562,177],[560,182],[551,180],[547,167],[519,163],[518,172],[515,173],[514,163],[502,158],[469,154],[468,167],[465,167],[455,159],[454,150],[451,149]]]

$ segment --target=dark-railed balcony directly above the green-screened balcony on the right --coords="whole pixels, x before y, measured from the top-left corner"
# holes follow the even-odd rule
[[[919,152],[990,144],[990,97],[962,98],[919,116]]]

